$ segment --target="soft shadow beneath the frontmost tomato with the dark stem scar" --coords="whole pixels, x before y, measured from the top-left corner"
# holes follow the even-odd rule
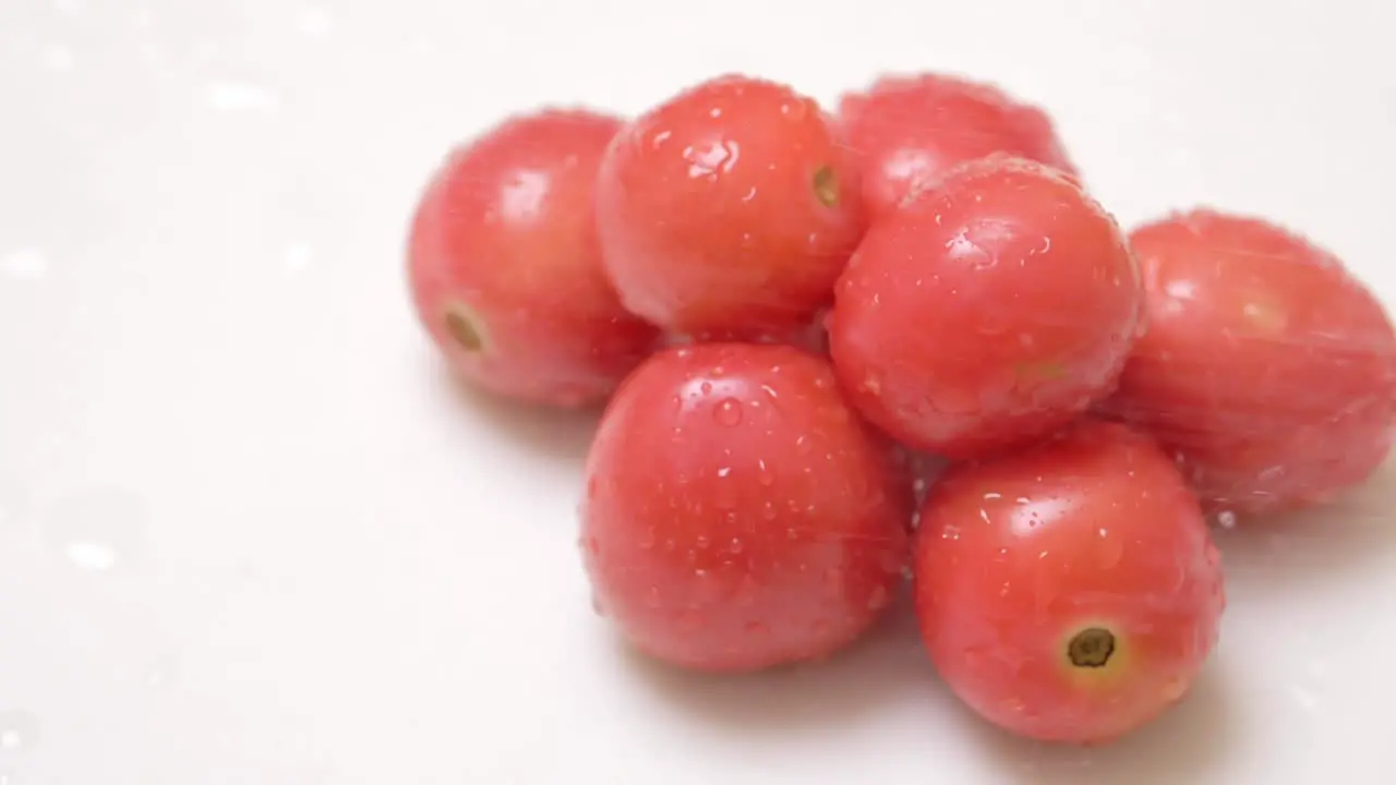
[[[977,728],[974,736],[984,749],[984,760],[1025,784],[1205,782],[1208,771],[1226,757],[1235,722],[1234,703],[1219,670],[1213,662],[1171,711],[1124,739],[1096,747],[1022,739],[960,708]]]

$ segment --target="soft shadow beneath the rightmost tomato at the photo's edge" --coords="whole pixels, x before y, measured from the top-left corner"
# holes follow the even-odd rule
[[[1215,532],[1228,578],[1284,589],[1332,580],[1396,550],[1396,460],[1330,503]]]

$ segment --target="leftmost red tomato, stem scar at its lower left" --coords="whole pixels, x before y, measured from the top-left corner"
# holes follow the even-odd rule
[[[595,404],[649,353],[656,330],[621,307],[592,221],[617,129],[579,110],[515,117],[456,149],[423,193],[408,249],[413,300],[473,384]]]

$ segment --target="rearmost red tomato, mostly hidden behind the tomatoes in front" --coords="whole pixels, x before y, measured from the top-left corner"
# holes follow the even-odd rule
[[[839,122],[860,152],[863,201],[874,217],[951,168],[995,152],[1076,172],[1041,109],[942,74],[885,75],[845,95]]]

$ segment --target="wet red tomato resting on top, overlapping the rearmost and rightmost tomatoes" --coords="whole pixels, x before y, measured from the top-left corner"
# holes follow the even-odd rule
[[[872,423],[969,458],[1108,394],[1142,300],[1100,205],[1053,169],[986,158],[874,222],[835,291],[829,346]]]

